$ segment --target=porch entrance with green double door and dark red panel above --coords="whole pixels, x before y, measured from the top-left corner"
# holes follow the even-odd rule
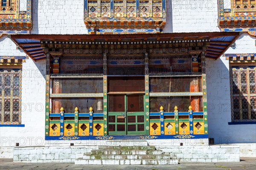
[[[109,135],[145,134],[144,77],[109,79]]]

